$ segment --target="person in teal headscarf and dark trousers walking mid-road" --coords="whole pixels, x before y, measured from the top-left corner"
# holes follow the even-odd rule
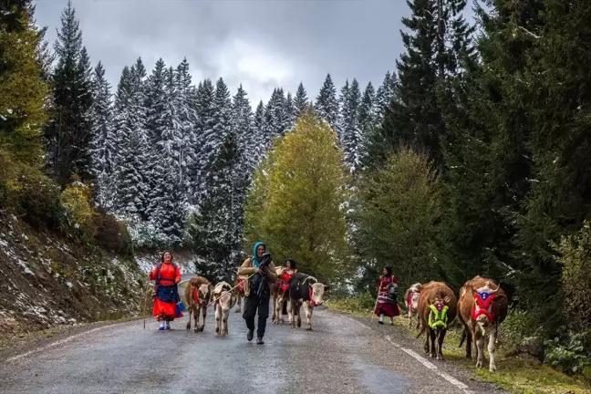
[[[271,254],[265,254],[266,246],[257,242],[253,247],[253,256],[244,260],[238,268],[238,275],[250,276],[244,284],[244,314],[248,334],[246,339],[252,341],[254,337],[254,316],[258,312],[256,327],[256,343],[263,345],[264,328],[269,317],[269,300],[271,298],[271,284],[277,280],[275,264]]]

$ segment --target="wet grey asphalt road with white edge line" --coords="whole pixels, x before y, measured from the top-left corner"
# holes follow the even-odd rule
[[[286,316],[285,316],[286,320]],[[314,331],[275,326],[264,345],[246,341],[241,313],[216,337],[213,308],[205,330],[187,316],[159,331],[150,319],[94,328],[0,367],[6,393],[494,393],[451,362],[423,358],[398,327],[314,310]]]

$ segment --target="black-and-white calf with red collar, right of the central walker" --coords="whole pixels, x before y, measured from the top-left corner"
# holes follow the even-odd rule
[[[314,276],[297,273],[289,281],[289,306],[292,327],[302,326],[302,317],[300,306],[304,306],[306,313],[306,330],[312,330],[312,310],[314,306],[322,305],[324,292],[330,288],[329,285],[323,285]]]

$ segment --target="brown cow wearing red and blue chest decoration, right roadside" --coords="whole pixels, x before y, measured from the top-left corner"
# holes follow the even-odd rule
[[[461,343],[466,340],[466,357],[472,358],[472,341],[476,346],[478,358],[476,368],[484,364],[484,337],[489,336],[488,351],[491,357],[489,370],[494,372],[494,343],[496,342],[499,324],[507,316],[509,301],[500,285],[493,279],[474,276],[460,289],[460,302],[458,317],[464,326]]]

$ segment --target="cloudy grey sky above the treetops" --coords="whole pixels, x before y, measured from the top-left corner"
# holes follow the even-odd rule
[[[36,21],[56,37],[67,0],[37,0]],[[327,72],[377,87],[403,49],[403,0],[73,0],[84,45],[117,86],[121,69],[142,57],[176,66],[183,57],[193,82],[222,77],[243,83],[254,105],[273,88],[295,93],[300,81],[316,98]]]

